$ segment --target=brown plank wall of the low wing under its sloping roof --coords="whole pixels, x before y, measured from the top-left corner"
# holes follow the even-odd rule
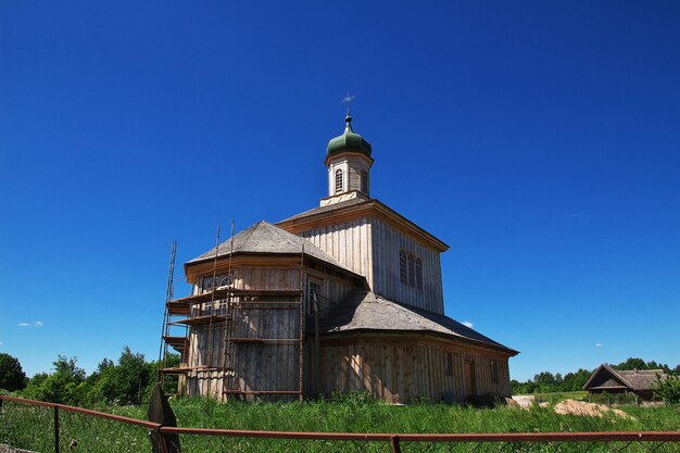
[[[448,374],[448,355],[452,374]],[[408,403],[420,399],[441,401],[445,393],[456,402],[468,397],[464,364],[475,368],[476,395],[509,397],[507,357],[465,351],[427,341],[356,339],[322,344],[322,389],[324,394],[367,391],[389,402]],[[492,361],[498,381],[492,379]]]

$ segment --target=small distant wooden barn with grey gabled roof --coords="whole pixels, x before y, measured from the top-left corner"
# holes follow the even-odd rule
[[[651,400],[651,386],[657,376],[660,380],[668,377],[663,369],[618,370],[605,363],[593,372],[583,390],[589,393],[633,393],[642,400]]]

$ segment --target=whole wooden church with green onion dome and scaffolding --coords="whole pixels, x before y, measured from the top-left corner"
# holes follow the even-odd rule
[[[517,351],[444,315],[449,247],[370,198],[372,147],[349,112],[325,163],[317,207],[260,222],[185,263],[192,295],[168,298],[163,336],[180,353],[164,368],[179,375],[178,391],[219,401],[509,397]]]

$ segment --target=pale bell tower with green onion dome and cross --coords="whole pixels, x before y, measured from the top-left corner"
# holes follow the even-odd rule
[[[354,198],[370,198],[370,143],[352,130],[352,115],[348,103],[344,133],[330,139],[326,149],[328,167],[328,197],[322,206]]]

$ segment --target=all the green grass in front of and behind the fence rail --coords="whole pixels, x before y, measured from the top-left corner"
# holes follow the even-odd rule
[[[615,416],[604,418],[557,415],[547,407],[473,408],[448,404],[388,405],[353,394],[330,401],[305,403],[240,403],[217,404],[203,398],[172,400],[180,427],[225,428],[276,431],[316,432],[390,432],[390,433],[454,433],[454,432],[551,432],[551,431],[675,431],[680,427],[678,406],[624,406],[632,419]],[[113,406],[98,410],[146,419],[146,406]],[[62,450],[77,442],[76,452],[144,452],[150,451],[144,428],[80,414],[60,413]],[[53,451],[52,412],[43,407],[4,404],[0,412],[0,443],[12,443],[34,451]],[[306,443],[304,443],[306,442]],[[327,441],[290,443],[269,439],[209,438],[182,436],[182,452],[207,451],[366,451],[388,452],[385,443],[331,443]],[[462,451],[470,446],[459,445]],[[464,446],[464,448],[463,448]],[[543,451],[540,444],[529,445]],[[545,448],[546,445],[542,445]],[[607,451],[606,444],[589,451]],[[652,445],[653,446],[653,445]],[[495,450],[493,450],[495,448]],[[561,452],[581,451],[583,445],[563,445]],[[671,445],[677,448],[677,445]],[[487,446],[476,451],[487,451]],[[499,445],[489,445],[498,451]],[[626,452],[646,451],[634,445]],[[451,444],[417,445],[404,451],[457,451]],[[514,451],[514,450],[509,450]],[[552,451],[549,449],[549,451]],[[667,451],[667,450],[659,450]],[[670,450],[672,451],[672,450]]]

